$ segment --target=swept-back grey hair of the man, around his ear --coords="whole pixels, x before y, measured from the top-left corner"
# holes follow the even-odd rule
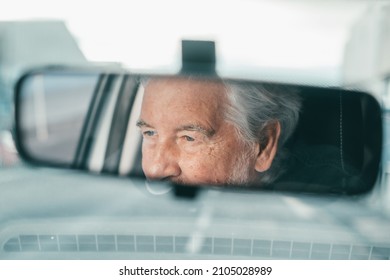
[[[285,86],[228,81],[224,84],[228,99],[225,117],[245,144],[266,144],[264,130],[276,121],[280,123],[278,151],[270,169],[260,174],[262,183],[271,183],[284,171],[284,145],[298,123],[301,100],[295,90]]]

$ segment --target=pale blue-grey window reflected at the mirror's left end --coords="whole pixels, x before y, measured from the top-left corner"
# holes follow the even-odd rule
[[[27,154],[38,161],[70,165],[98,75],[37,74],[21,88],[19,128]]]

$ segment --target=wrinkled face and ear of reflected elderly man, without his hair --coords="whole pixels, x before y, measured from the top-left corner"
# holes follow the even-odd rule
[[[150,80],[138,121],[146,177],[182,184],[244,184],[256,178],[256,171],[267,170],[277,137],[263,148],[245,143],[225,120],[227,102],[221,82]]]

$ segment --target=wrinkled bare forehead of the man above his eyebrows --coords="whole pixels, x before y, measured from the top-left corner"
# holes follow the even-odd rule
[[[157,78],[145,85],[140,119],[157,126],[196,124],[216,130],[224,120],[225,86],[222,82]]]

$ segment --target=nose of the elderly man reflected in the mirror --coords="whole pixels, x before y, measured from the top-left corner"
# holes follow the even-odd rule
[[[168,179],[181,173],[178,150],[174,144],[157,143],[155,147],[143,149],[142,168],[147,178]]]

